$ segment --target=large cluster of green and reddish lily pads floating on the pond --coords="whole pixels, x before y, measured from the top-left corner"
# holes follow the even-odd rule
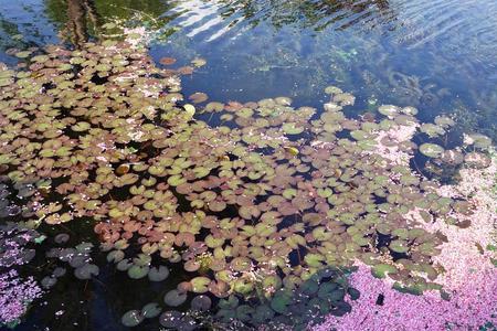
[[[162,281],[180,266],[189,280],[166,295],[171,308],[192,292],[194,309],[219,302],[222,319],[345,313],[347,286],[313,279],[357,259],[399,289],[441,289],[432,257],[446,238],[406,215],[416,210],[422,222],[465,226],[451,212],[472,206],[440,196],[436,180],[376,151],[395,147],[452,167],[489,160],[484,136],[470,136],[469,147],[445,143],[446,116],[421,125],[415,108],[387,105],[347,118],[342,109],[355,97],[337,87],[327,88],[330,102],[319,111],[295,109],[287,97],[205,104],[201,93],[190,97],[193,106],[177,72],[163,67],[173,61],[159,67],[126,42],[17,56],[18,70],[0,67],[0,215],[22,216],[33,228],[91,220],[107,260],[131,279]],[[402,127],[422,142],[384,135]],[[91,249],[82,243],[50,256],[88,279],[98,274]],[[54,270],[42,284],[62,276]],[[159,313],[147,306],[123,322]]]

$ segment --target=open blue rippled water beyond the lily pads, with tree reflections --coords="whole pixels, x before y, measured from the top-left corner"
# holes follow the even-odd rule
[[[207,60],[183,79],[186,95],[239,102],[283,95],[317,107],[335,84],[357,96],[357,113],[381,100],[419,107],[422,119],[457,115],[469,130],[495,135],[491,0],[89,2],[81,12],[61,0],[1,3],[0,61],[13,61],[4,54],[19,43],[12,35],[30,44],[57,41],[71,10],[73,18],[88,15],[82,24],[89,35],[94,22],[141,19],[163,39],[151,45],[156,60]]]

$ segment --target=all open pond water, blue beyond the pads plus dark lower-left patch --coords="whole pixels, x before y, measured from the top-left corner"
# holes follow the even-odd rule
[[[205,60],[181,77],[186,96],[202,92],[222,103],[287,96],[296,108],[320,114],[325,88],[334,85],[356,96],[350,117],[382,104],[413,106],[422,121],[448,115],[459,131],[497,138],[495,0],[3,0],[0,62],[18,62],[12,47],[96,40],[116,21],[152,31],[157,62]],[[93,227],[89,220],[68,226],[67,247],[97,245]],[[105,265],[105,255],[94,258]],[[15,330],[128,330],[124,312],[161,301],[188,277],[175,270],[150,286],[107,266],[94,281],[64,278]],[[137,330],[159,328],[147,320]]]

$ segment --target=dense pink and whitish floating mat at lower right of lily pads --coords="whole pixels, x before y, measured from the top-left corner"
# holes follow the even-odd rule
[[[441,254],[434,257],[444,273],[436,281],[444,286],[441,297],[433,291],[422,297],[405,296],[395,290],[395,284],[374,279],[370,268],[358,263],[359,270],[350,282],[361,291],[352,302],[352,312],[341,319],[334,317],[314,330],[446,330],[478,329],[497,322],[495,306],[497,268],[495,265],[495,224],[497,221],[496,158],[486,169],[464,168],[461,181],[442,185],[440,193],[451,197],[467,197],[476,207],[468,215],[455,211],[458,222],[469,221],[461,228],[444,222],[426,223],[430,232],[440,231],[447,241]],[[416,215],[419,217],[419,215]],[[392,288],[393,286],[393,288]],[[381,298],[381,300],[380,300]]]

